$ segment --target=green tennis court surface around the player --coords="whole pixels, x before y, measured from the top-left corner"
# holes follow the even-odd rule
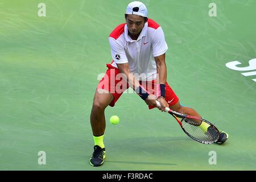
[[[0,2],[1,170],[256,169],[256,75],[241,74],[256,71],[255,61],[246,71],[226,67],[249,67],[256,58],[253,0],[142,1],[166,36],[168,83],[183,105],[226,131],[228,142],[195,142],[170,115],[123,94],[105,111],[105,163],[89,165],[94,91],[112,61],[108,36],[125,22],[129,2]],[[39,3],[46,16],[38,16]],[[46,164],[38,164],[39,151]]]

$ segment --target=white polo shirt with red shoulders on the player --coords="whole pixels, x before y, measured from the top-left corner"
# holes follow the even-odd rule
[[[126,23],[120,24],[109,35],[112,54],[111,65],[129,63],[130,73],[137,73],[138,80],[154,80],[156,63],[154,57],[163,55],[168,47],[162,28],[152,19],[144,24],[137,40],[128,35]]]

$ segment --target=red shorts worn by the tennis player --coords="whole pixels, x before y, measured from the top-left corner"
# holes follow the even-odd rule
[[[126,78],[123,78],[121,74],[119,74],[119,70],[115,67],[113,67],[111,64],[107,64],[107,71],[105,76],[101,79],[101,81],[98,83],[97,89],[103,89],[107,90],[108,92],[112,93],[114,99],[109,104],[109,106],[114,106],[115,102],[121,97],[121,95],[127,92],[127,89],[129,88],[129,84],[127,84]],[[139,81],[139,83],[146,88],[148,93],[155,94],[155,80],[152,81]],[[133,91],[134,93],[134,91]],[[166,82],[166,101],[169,104],[169,106],[175,105],[179,98],[176,96],[174,91],[171,89],[171,87]],[[148,106],[149,109],[154,108],[154,106]]]

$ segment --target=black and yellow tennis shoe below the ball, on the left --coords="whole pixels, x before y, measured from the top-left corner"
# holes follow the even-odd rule
[[[106,158],[106,150],[100,146],[94,146],[93,149],[94,151],[92,157],[90,158],[90,165],[95,167],[101,166]]]

